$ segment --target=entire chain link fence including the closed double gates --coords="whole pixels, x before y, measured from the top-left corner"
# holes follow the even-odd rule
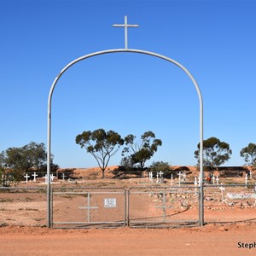
[[[204,186],[204,223],[256,222],[255,185]],[[166,184],[131,188],[51,189],[54,228],[173,227],[199,225],[197,186]],[[0,227],[45,226],[42,188],[0,188]]]

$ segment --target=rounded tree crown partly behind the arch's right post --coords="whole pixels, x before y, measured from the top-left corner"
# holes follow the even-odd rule
[[[198,143],[197,148],[200,148]],[[217,137],[210,137],[203,141],[203,161],[204,166],[210,167],[211,170],[217,169],[230,159],[232,150],[228,143],[221,142]],[[200,149],[195,150],[195,158],[198,165],[200,164]]]

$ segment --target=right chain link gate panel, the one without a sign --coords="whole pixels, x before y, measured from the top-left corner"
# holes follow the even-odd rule
[[[195,187],[128,189],[130,227],[200,225],[200,193]]]

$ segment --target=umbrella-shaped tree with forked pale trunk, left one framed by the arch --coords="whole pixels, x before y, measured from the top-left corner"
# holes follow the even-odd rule
[[[115,131],[83,131],[76,137],[76,143],[93,155],[102,170],[102,177],[113,154],[116,154],[124,140]]]

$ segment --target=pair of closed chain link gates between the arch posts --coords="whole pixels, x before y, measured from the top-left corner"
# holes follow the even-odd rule
[[[55,188],[51,227],[174,227],[200,224],[195,187]]]

